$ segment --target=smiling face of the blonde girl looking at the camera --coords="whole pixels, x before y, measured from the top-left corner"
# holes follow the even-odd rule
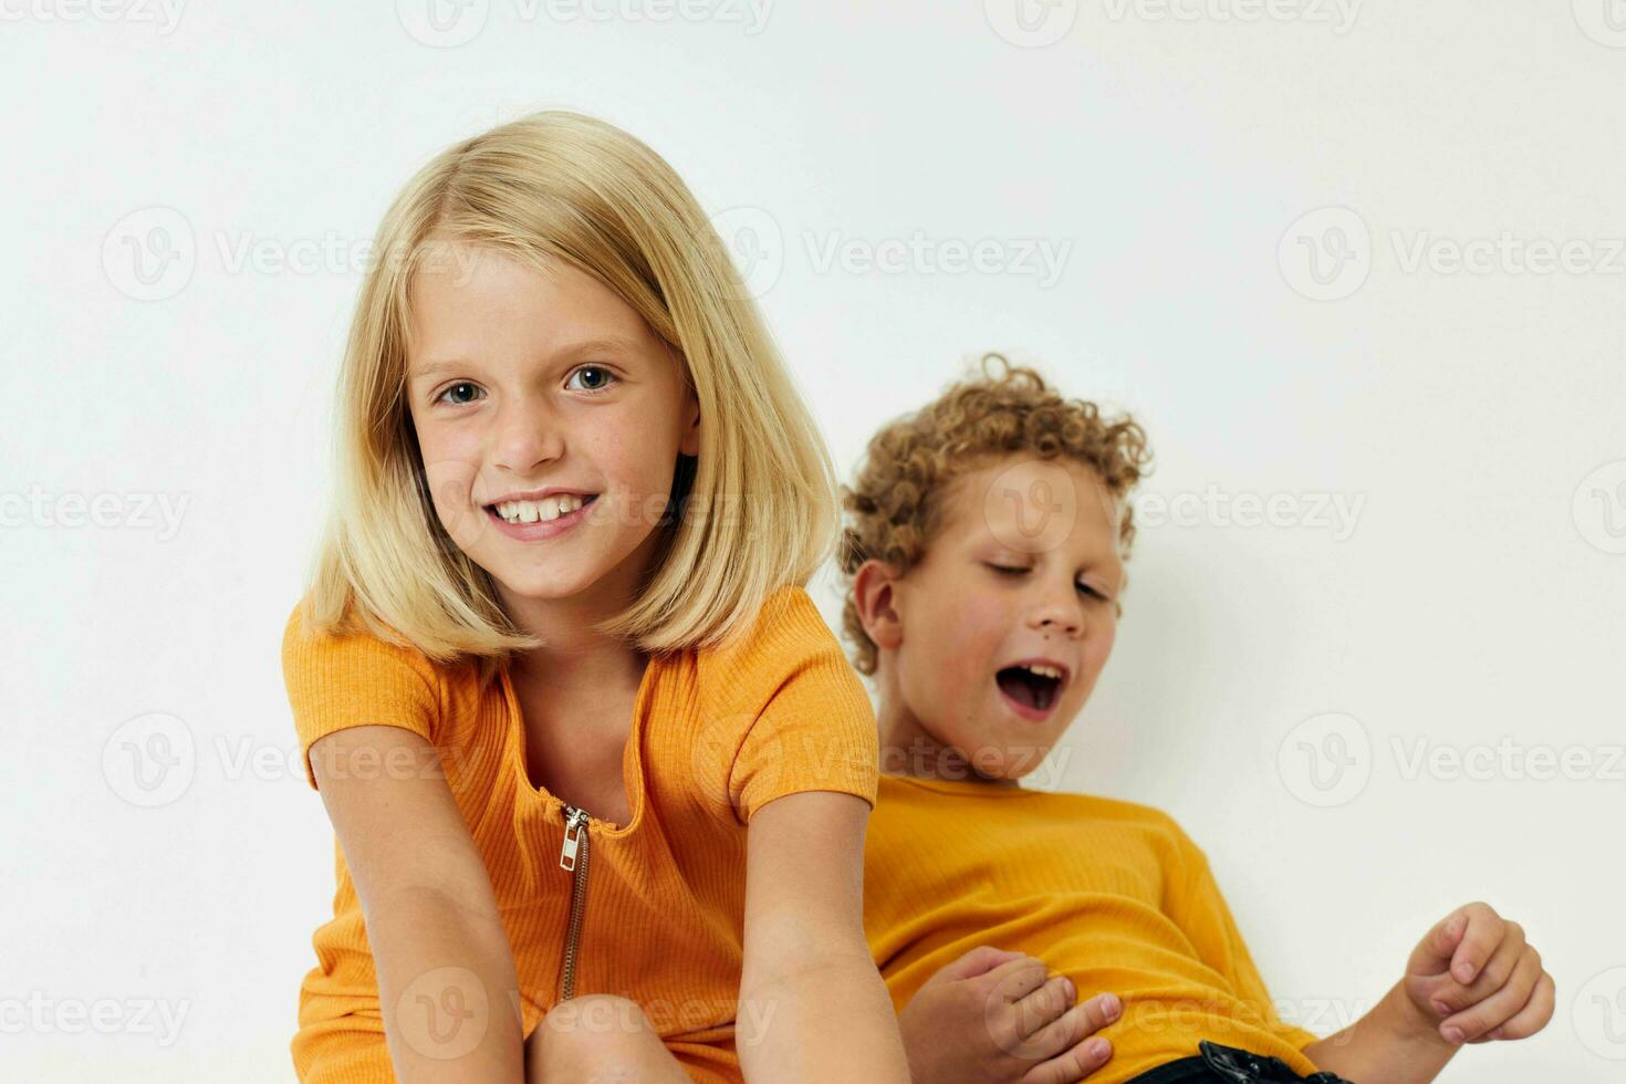
[[[699,453],[678,358],[584,271],[452,255],[411,281],[406,395],[436,515],[511,601],[620,608],[678,453]]]

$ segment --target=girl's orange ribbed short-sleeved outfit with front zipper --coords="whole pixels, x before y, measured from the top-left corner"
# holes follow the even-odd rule
[[[558,1001],[571,873],[559,868],[563,801],[525,777],[524,720],[507,674],[367,635],[306,639],[299,608],[283,674],[301,748],[385,723],[441,749],[496,889],[519,970],[525,1034]],[[623,759],[633,819],[590,821],[576,990],[637,1001],[698,1081],[741,1081],[733,1048],[743,964],[746,824],[803,790],[876,790],[875,713],[859,676],[797,585],[776,592],[724,650],[654,657]],[[309,761],[306,772],[311,785]],[[589,811],[590,813],[590,811]],[[402,830],[411,830],[410,821]],[[393,1081],[377,978],[354,884],[335,840],[333,920],[299,991],[294,1069],[309,1084]]]

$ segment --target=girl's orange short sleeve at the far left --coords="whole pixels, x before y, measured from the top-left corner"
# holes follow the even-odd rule
[[[283,684],[293,709],[306,782],[315,788],[311,746],[348,726],[400,726],[434,743],[439,691],[418,650],[367,634],[307,634],[296,606],[283,629]]]

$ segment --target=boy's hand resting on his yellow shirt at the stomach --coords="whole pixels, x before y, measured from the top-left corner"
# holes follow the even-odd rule
[[[898,1014],[909,1074],[930,1084],[1068,1084],[1112,1056],[1091,1035],[1117,1019],[1109,993],[1073,1006],[1044,960],[987,944],[943,967]]]

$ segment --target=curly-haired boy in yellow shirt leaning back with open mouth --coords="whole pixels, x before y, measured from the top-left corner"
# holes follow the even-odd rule
[[[1419,1084],[1538,1032],[1553,980],[1485,904],[1353,1027],[1288,1025],[1167,814],[1018,785],[1112,650],[1148,458],[1133,421],[1005,362],[876,434],[846,492],[844,626],[881,726],[865,931],[914,1079]]]

